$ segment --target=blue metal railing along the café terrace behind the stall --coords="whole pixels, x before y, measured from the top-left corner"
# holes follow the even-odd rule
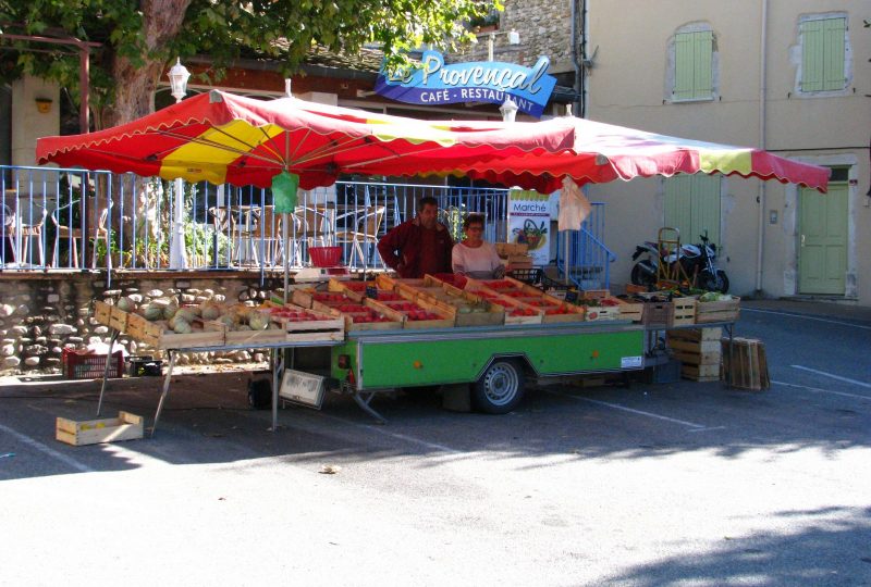
[[[474,212],[487,220],[487,240],[507,237],[506,189],[342,180],[300,190],[294,212],[277,214],[268,189],[181,183],[176,193],[177,185],[133,174],[0,166],[0,270],[259,270],[265,275],[285,263],[309,266],[309,249],[317,246],[340,246],[341,262],[352,270],[380,267],[378,239],[414,217],[424,196],[438,200],[455,238]],[[176,197],[184,202],[177,218]],[[585,228],[601,243],[602,204],[593,208]],[[171,262],[174,227],[184,243],[181,266]],[[580,259],[588,263],[587,245],[572,238],[573,250],[579,247],[572,265]]]

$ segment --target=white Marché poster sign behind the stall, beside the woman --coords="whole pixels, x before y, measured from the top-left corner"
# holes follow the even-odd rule
[[[533,190],[513,189],[508,192],[508,242],[526,243],[532,264],[537,266],[550,262],[549,200],[549,195]]]

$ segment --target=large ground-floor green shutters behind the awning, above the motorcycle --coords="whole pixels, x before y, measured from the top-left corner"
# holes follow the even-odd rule
[[[698,242],[708,232],[720,246],[720,176],[698,173],[665,180],[665,226],[680,230],[680,241]]]

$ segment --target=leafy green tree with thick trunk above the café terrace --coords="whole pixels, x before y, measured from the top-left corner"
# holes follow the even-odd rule
[[[89,103],[106,127],[152,111],[158,80],[176,55],[209,55],[213,80],[241,57],[277,60],[290,75],[312,43],[353,53],[380,42],[388,65],[398,66],[422,43],[453,50],[470,40],[463,23],[493,7],[500,0],[0,0],[0,27],[102,43],[91,52]],[[3,45],[13,50],[0,52],[0,80],[27,73],[78,96],[70,48]]]

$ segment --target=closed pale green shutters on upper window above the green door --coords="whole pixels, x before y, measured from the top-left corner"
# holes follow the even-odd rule
[[[801,91],[841,90],[844,75],[845,18],[801,23]]]

